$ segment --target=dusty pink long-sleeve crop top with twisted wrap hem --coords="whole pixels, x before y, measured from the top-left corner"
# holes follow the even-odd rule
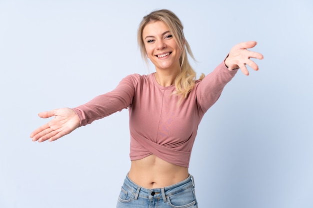
[[[169,163],[188,167],[198,124],[236,71],[229,71],[222,62],[203,80],[196,80],[181,102],[179,96],[173,95],[175,86],[159,85],[154,73],[132,74],[111,92],[73,110],[79,117],[79,126],[84,126],[128,108],[130,160],[154,154]]]

